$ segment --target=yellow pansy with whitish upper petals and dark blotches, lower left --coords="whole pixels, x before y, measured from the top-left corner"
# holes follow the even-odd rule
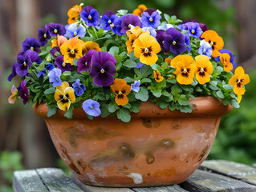
[[[56,86],[55,101],[60,110],[67,111],[71,103],[75,102],[74,89],[69,86],[68,82],[63,82]]]

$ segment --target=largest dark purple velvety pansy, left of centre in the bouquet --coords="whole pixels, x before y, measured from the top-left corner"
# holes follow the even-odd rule
[[[98,52],[91,58],[93,82],[97,86],[110,86],[116,74],[116,58],[107,52]]]

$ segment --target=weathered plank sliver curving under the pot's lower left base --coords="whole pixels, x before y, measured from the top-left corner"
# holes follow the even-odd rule
[[[100,187],[100,186],[87,186],[75,178],[74,174],[70,174],[72,182],[79,186],[81,190],[85,192],[134,192],[128,188],[110,188],[110,187]]]

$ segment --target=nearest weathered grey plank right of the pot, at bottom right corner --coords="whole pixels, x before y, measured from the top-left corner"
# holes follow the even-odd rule
[[[256,186],[251,186],[246,182],[238,181],[234,178],[227,178],[219,174],[213,174],[204,170],[196,170],[192,176],[180,186],[185,190],[197,192],[254,192]]]

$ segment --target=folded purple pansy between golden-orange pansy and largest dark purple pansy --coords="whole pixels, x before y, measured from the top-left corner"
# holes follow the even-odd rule
[[[82,58],[77,61],[77,71],[88,71],[91,67],[91,57],[92,55],[98,53],[96,50],[89,50]]]

